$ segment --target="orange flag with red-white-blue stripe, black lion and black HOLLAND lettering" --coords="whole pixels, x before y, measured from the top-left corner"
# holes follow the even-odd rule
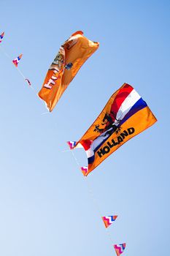
[[[85,135],[72,143],[81,144],[88,157],[88,167],[81,167],[84,176],[95,169],[125,142],[152,126],[157,119],[147,103],[128,83],[124,83],[101,111]],[[69,142],[68,142],[69,143]]]

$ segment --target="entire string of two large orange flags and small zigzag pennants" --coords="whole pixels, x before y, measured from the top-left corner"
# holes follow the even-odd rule
[[[3,39],[4,32],[0,34],[0,43]],[[82,64],[98,49],[98,46],[98,42],[90,41],[84,37],[82,31],[75,32],[61,45],[58,54],[48,69],[42,89],[38,94],[43,105],[44,102],[46,103],[49,111],[55,108],[56,103],[67,86],[69,86],[69,83],[72,82]],[[71,48],[72,50],[69,51]],[[4,54],[11,59],[5,51]],[[18,64],[22,56],[23,54],[20,54],[12,60],[12,63],[28,86],[33,89],[30,80],[18,69]],[[73,70],[74,72],[72,72]],[[155,121],[157,119],[152,114],[147,103],[144,102],[132,86],[124,83],[120,89],[112,94],[104,110],[96,121],[93,122],[88,131],[85,132],[85,135],[77,142],[68,142],[71,150],[79,147],[85,149],[88,157],[88,166],[80,167],[79,162],[74,157],[85,176],[85,180],[86,176],[106,159],[109,154],[112,154],[123,143],[135,135],[143,132],[144,129],[155,124]],[[104,222],[104,226],[108,228],[115,222],[117,215],[102,216],[101,219]],[[117,256],[123,253],[125,246],[125,243],[113,245]]]

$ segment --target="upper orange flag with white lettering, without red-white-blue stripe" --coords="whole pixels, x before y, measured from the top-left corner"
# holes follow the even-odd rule
[[[98,49],[99,43],[90,41],[77,31],[61,45],[57,56],[47,71],[38,95],[51,112],[61,95],[72,82],[82,64]]]

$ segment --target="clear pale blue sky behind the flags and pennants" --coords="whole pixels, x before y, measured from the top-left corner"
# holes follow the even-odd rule
[[[109,256],[123,242],[125,256],[168,255],[170,2],[0,0],[0,10],[1,47],[11,57],[0,49],[0,255]],[[19,68],[38,92],[77,30],[100,47],[42,115],[45,106],[11,61],[23,53]],[[82,137],[123,83],[158,122],[86,183],[66,141]],[[87,164],[85,151],[74,154]],[[100,213],[118,215],[109,236]]]

